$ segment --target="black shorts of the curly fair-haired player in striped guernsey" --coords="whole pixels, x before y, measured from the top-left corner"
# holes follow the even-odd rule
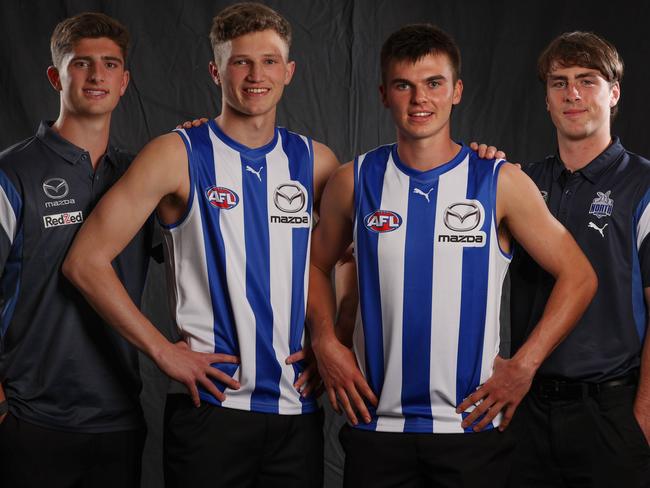
[[[196,408],[187,395],[169,395],[163,450],[167,488],[320,488],[323,414]]]

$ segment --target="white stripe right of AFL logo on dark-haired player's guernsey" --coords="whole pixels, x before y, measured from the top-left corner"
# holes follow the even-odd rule
[[[402,319],[408,190],[409,177],[397,169],[391,155],[384,174],[380,207],[400,215],[402,225],[392,232],[379,234],[377,243],[381,319],[384,324],[384,387],[377,408],[380,416],[377,430],[382,431],[397,429],[398,424],[401,424],[399,430],[404,430],[403,417],[391,420],[385,416],[402,415]]]

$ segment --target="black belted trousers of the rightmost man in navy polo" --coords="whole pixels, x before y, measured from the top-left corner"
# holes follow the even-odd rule
[[[583,398],[533,390],[517,409],[512,488],[650,487],[650,447],[632,411],[636,386]]]

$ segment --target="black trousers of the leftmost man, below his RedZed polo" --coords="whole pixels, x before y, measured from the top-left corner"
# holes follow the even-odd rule
[[[7,488],[139,488],[145,431],[86,434],[0,424],[0,485]]]

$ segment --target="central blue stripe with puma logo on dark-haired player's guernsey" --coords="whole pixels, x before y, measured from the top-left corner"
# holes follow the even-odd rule
[[[429,201],[414,193],[427,193]],[[431,292],[437,178],[410,178],[404,252],[402,414],[404,432],[433,432],[431,412]]]

